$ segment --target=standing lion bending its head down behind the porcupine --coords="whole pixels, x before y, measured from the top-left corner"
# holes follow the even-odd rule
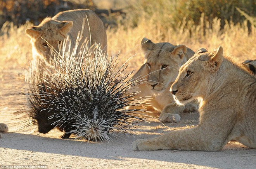
[[[104,52],[107,51],[106,30],[102,20],[92,10],[77,9],[60,12],[52,18],[45,18],[38,26],[26,29],[26,34],[31,38],[33,57],[40,56],[46,61],[49,61],[52,56],[51,46],[58,52],[58,45],[67,36],[71,40],[72,50],[79,32],[81,35],[78,49],[84,42],[87,43],[88,48],[97,43],[101,45]]]

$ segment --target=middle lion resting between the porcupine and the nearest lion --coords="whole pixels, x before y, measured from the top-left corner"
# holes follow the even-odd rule
[[[140,96],[152,96],[149,101],[155,110],[161,112],[159,118],[164,123],[179,122],[185,106],[178,106],[169,92],[171,84],[178,76],[178,69],[194,52],[184,45],[174,46],[168,42],[153,43],[149,39],[142,39],[142,49],[145,52],[145,63],[133,76],[133,79],[144,79],[135,90]],[[154,86],[154,87],[153,87]],[[150,107],[149,107],[150,109]],[[188,111],[195,111],[197,105],[189,104]]]

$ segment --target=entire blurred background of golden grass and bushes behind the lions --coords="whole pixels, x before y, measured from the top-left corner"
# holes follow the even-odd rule
[[[194,51],[221,45],[239,61],[256,59],[256,0],[0,0],[2,63],[28,65],[31,44],[25,29],[77,8],[99,15],[106,26],[109,54],[120,52],[123,62],[132,56],[131,69],[144,62],[143,37],[184,44]]]

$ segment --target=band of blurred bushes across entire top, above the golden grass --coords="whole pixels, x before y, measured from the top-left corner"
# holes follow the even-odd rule
[[[112,8],[111,5],[104,5],[104,2],[112,3]],[[114,6],[116,3],[119,3],[118,10]],[[226,23],[238,24],[244,20],[248,20],[250,28],[254,23],[251,23],[249,17],[256,16],[255,0],[0,0],[0,27],[6,21],[17,26],[26,21],[38,25],[47,16],[52,17],[58,12],[77,8],[95,11],[104,18],[106,26],[120,22],[136,27],[141,19],[154,18],[156,23],[160,21],[163,24],[163,29],[176,28],[180,21],[199,25],[201,19],[208,21],[209,27],[212,27],[216,17],[220,19],[221,29]],[[126,15],[119,18],[110,16],[115,12]],[[112,17],[112,22],[109,17]]]

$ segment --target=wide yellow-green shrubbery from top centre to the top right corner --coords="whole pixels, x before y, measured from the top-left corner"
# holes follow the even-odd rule
[[[256,16],[255,0],[139,0],[127,9],[126,19],[133,26],[137,26],[141,19],[146,19],[161,24],[163,29],[175,29],[180,22],[199,25],[202,16],[203,21],[209,22],[211,28],[213,19],[217,17],[223,29],[226,21],[242,24],[246,20],[237,8],[251,17]]]

